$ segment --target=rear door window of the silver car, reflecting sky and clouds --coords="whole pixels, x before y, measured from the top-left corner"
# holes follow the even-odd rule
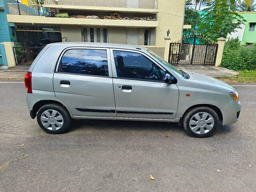
[[[58,72],[108,76],[106,50],[70,49],[61,58]]]

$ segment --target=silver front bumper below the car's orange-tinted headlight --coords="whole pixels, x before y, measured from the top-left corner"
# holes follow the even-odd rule
[[[221,109],[223,122],[222,125],[229,125],[238,121],[241,111],[241,103],[231,101],[224,108]]]

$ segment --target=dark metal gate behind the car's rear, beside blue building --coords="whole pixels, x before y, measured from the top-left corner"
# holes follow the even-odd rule
[[[16,65],[31,65],[44,47],[13,47]]]

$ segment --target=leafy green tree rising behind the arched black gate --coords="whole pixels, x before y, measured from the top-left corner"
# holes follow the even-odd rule
[[[213,0],[206,6],[203,10],[206,14],[202,16],[199,31],[212,41],[221,36],[226,37],[228,33],[241,28],[240,25],[246,21],[236,12],[236,0]]]

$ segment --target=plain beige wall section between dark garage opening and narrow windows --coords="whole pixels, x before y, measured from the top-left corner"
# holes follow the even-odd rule
[[[62,25],[60,31],[62,38],[67,38],[67,42],[82,42],[81,26]]]

